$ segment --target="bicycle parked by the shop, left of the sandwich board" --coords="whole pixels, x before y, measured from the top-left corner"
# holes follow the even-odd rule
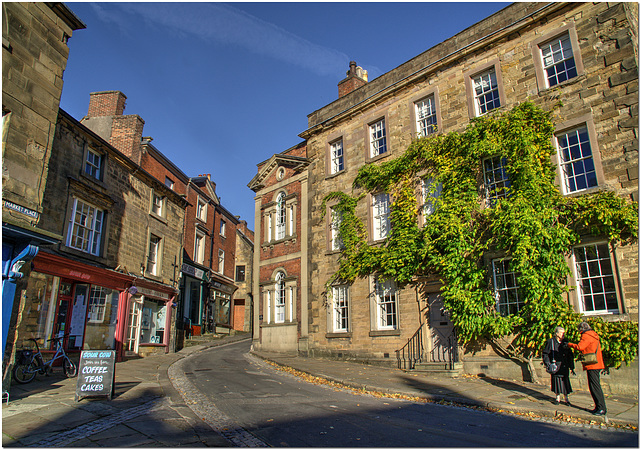
[[[48,362],[45,362],[42,357],[40,347],[38,346],[38,340],[35,338],[29,338],[29,340],[36,344],[36,350],[35,352],[32,349],[23,349],[22,351],[18,351],[16,363],[12,371],[13,378],[16,382],[19,384],[27,384],[35,379],[36,374],[46,374],[48,376],[51,372],[53,362],[59,359],[62,359],[62,371],[65,376],[74,377],[78,374],[78,367],[69,358],[67,353],[64,352],[64,348],[62,347],[62,339],[65,337],[66,335],[47,340],[56,342],[56,353]]]

